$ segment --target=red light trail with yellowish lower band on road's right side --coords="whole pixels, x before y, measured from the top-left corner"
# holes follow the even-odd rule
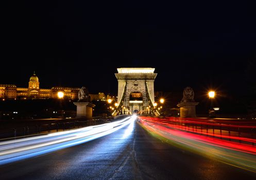
[[[210,156],[223,163],[256,172],[256,147],[254,146],[256,139],[254,138],[233,135],[235,134],[233,131],[230,135],[223,135],[219,134],[218,129],[215,129],[215,132],[213,130],[213,133],[206,132],[208,130],[205,129],[205,125],[213,127],[214,124],[206,122],[205,119],[162,119],[141,116],[139,117],[139,123],[153,136],[179,148]],[[186,124],[188,125],[189,123],[193,123],[193,128],[186,127]],[[197,128],[201,128],[201,124],[204,124],[204,128],[198,130]],[[255,128],[253,125],[224,125],[228,128],[236,128],[237,126],[239,128]],[[197,129],[197,131],[194,129]],[[212,129],[209,130],[212,131]],[[221,133],[227,132],[223,131]],[[243,134],[243,136],[246,135],[248,134]]]

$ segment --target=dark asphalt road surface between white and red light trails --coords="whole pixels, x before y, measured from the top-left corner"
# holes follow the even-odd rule
[[[256,179],[245,171],[187,152],[139,124],[46,155],[0,167],[0,179]]]

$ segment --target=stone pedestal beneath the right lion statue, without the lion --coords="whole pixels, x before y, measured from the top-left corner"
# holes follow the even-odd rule
[[[199,102],[181,102],[177,104],[180,108],[180,117],[196,117],[196,105]]]

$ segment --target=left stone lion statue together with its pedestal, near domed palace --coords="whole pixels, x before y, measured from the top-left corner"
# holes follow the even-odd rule
[[[78,92],[78,102],[74,102],[76,108],[76,118],[92,118],[92,109],[95,104],[90,102],[88,89],[82,86]]]

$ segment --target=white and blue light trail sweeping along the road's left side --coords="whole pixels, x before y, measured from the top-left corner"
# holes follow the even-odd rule
[[[88,142],[125,127],[135,118],[126,117],[119,121],[71,131],[0,142],[0,165]]]

